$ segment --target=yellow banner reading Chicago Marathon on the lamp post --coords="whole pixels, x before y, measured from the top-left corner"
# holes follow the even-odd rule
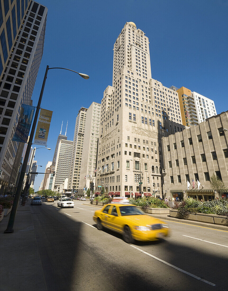
[[[38,124],[35,133],[34,144],[47,145],[47,137],[51,123],[52,112],[50,110],[41,109]]]

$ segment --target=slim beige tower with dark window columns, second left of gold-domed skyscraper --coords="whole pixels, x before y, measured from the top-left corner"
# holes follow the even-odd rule
[[[78,116],[76,118],[68,189],[78,190],[79,179],[82,179],[82,178],[84,179],[84,177],[80,177],[80,170],[81,170],[81,156],[82,156],[84,132],[85,132],[86,111],[87,111],[87,108],[81,107],[81,109],[79,110]]]

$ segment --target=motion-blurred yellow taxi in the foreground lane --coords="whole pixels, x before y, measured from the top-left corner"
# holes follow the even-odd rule
[[[131,204],[107,204],[101,210],[95,211],[93,220],[97,223],[98,230],[105,227],[121,233],[127,243],[133,243],[134,239],[157,240],[169,233],[167,224]]]

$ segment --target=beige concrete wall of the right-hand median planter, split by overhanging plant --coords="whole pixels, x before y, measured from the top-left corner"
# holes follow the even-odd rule
[[[178,218],[177,213],[178,210],[170,209],[170,217]],[[216,214],[190,213],[188,220],[227,226],[227,217]]]

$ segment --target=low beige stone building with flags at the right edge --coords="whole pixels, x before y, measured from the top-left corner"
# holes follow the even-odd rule
[[[228,129],[228,111],[162,138],[165,197],[179,200],[187,196],[200,200],[218,197],[210,189],[213,173],[228,187],[228,132],[223,129]],[[189,189],[187,180],[191,184]]]

